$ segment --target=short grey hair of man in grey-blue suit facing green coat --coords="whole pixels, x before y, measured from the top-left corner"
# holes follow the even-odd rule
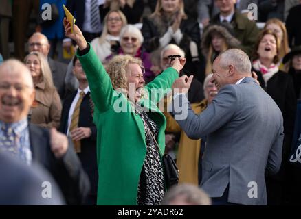
[[[227,68],[232,64],[238,73],[251,73],[252,64],[249,56],[241,49],[228,49],[219,55],[220,65]]]

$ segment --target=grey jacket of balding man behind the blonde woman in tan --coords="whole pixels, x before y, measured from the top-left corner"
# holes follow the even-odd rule
[[[67,64],[52,60],[51,57],[48,57],[48,63],[52,70],[54,86],[56,86],[56,90],[58,90],[58,94],[60,94],[60,99],[64,99],[66,92],[65,77],[67,73]]]

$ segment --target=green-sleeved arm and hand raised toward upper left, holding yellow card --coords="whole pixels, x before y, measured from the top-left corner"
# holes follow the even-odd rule
[[[71,33],[71,24],[64,18],[64,27],[66,36],[75,40],[78,44],[76,55],[87,75],[93,103],[100,112],[104,112],[113,103],[115,91],[113,90],[111,79],[78,26],[74,25],[74,33]]]

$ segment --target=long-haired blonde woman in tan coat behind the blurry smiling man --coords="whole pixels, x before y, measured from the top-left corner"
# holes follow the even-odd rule
[[[29,114],[30,122],[42,127],[58,128],[62,103],[54,87],[47,60],[43,54],[32,52],[25,57],[24,62],[32,73],[36,90],[34,103],[32,103]]]

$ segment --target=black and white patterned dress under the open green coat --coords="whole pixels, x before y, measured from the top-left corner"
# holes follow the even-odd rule
[[[148,117],[146,112],[138,113],[144,122],[146,133],[146,157],[140,175],[138,185],[137,204],[138,205],[159,205],[164,197],[164,175],[157,148],[147,126],[157,139],[158,127],[156,123]]]

